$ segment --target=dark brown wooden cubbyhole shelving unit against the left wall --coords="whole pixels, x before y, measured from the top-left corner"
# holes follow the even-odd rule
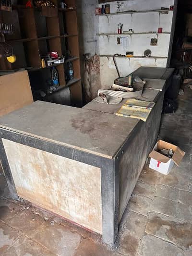
[[[57,0],[53,2],[60,4]],[[12,6],[12,12],[0,11],[0,22],[13,24],[13,34],[5,35],[5,40],[12,45],[17,58],[14,63],[0,58],[0,70],[27,69],[32,91],[37,91],[46,87],[54,66],[59,73],[58,90],[69,86],[72,104],[82,106],[76,0],[65,0],[65,3],[73,9],[58,8],[58,17],[42,16],[41,7],[26,8],[24,5]],[[70,51],[71,57],[64,63],[42,68],[42,56],[51,51],[57,51],[59,56],[66,56]],[[65,63],[68,61],[73,63],[74,79],[67,83]]]

